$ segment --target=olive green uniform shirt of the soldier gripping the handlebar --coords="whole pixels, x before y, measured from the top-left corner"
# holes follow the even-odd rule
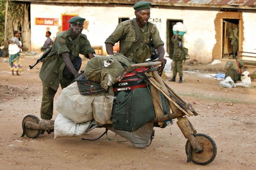
[[[139,38],[140,34],[143,36],[141,39]],[[137,40],[140,40],[140,43],[133,48]],[[114,32],[105,40],[105,43],[114,45],[118,41],[120,45],[119,52],[130,58],[134,63],[143,63],[151,57],[154,50],[151,44],[154,45],[154,48],[164,45],[155,24],[148,22],[143,28],[140,28],[136,19],[118,24]],[[130,49],[134,50],[129,54]]]

